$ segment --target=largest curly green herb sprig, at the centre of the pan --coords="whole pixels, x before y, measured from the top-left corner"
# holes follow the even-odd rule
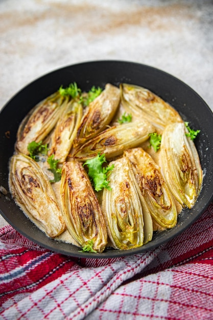
[[[103,163],[106,162],[105,154],[99,154],[91,159],[88,159],[83,166],[87,165],[88,167],[88,176],[92,181],[94,190],[100,191],[103,188],[111,190],[109,187],[109,181],[107,177],[110,174],[110,171],[114,168],[114,165],[103,167]]]

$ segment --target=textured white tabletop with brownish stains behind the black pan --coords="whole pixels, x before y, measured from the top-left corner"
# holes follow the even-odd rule
[[[212,27],[212,0],[1,0],[0,109],[61,66],[117,59],[174,75],[213,110]]]

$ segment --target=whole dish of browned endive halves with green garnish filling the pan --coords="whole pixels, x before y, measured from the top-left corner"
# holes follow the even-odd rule
[[[10,192],[57,241],[100,254],[140,247],[195,205],[197,134],[147,88],[61,86],[19,125]]]

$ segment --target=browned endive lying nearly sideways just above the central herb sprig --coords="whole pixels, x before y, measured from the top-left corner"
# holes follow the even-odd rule
[[[148,140],[149,133],[154,130],[154,127],[146,121],[114,126],[82,145],[73,156],[85,161],[100,152],[101,154],[105,153],[106,159],[110,159],[122,154],[128,148],[136,147]]]

